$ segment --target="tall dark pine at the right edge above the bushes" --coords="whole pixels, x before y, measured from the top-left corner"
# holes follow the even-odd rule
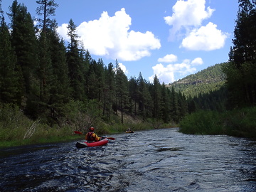
[[[238,19],[234,30],[230,63],[225,66],[227,85],[232,107],[255,105],[256,103],[256,3],[239,0]]]

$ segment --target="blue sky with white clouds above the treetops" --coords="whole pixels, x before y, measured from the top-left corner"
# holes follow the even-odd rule
[[[2,0],[9,13],[12,0]],[[36,0],[18,0],[36,15]],[[55,0],[58,33],[72,19],[85,50],[127,78],[169,84],[228,60],[238,0]],[[8,16],[6,22],[8,23]]]

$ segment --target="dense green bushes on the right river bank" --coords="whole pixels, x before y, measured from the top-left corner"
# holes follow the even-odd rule
[[[185,134],[227,134],[256,139],[256,107],[228,112],[198,111],[180,122]]]

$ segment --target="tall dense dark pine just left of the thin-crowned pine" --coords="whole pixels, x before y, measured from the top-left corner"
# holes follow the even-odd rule
[[[10,7],[11,13],[8,14],[11,19],[11,44],[14,47],[17,65],[22,70],[23,81],[21,89],[25,97],[36,94],[31,88],[35,87],[36,70],[38,69],[38,44],[36,33],[33,26],[31,14],[27,12],[24,5],[18,4],[15,0]]]

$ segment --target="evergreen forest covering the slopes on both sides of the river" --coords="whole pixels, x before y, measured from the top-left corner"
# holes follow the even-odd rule
[[[238,1],[229,61],[164,85],[157,76],[154,82],[145,80],[142,73],[127,78],[118,60],[92,59],[72,18],[70,41],[63,41],[54,0],[36,1],[36,22],[26,5],[14,0],[6,11],[10,23],[0,0],[0,141],[58,137],[90,126],[102,134],[178,124],[191,129],[186,120],[201,110],[222,113],[255,106],[256,2]]]

